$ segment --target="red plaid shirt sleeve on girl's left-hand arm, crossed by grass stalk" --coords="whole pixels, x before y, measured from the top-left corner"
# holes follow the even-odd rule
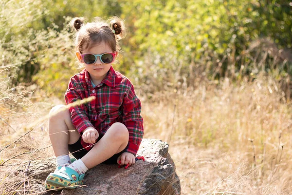
[[[84,89],[82,85],[76,82],[74,78],[71,78],[68,85],[68,89],[65,93],[66,104],[68,105],[79,99],[85,98],[83,91]],[[86,128],[93,127],[93,125],[91,124],[87,116],[88,109],[86,105],[82,104],[79,106],[71,107],[69,108],[69,110],[70,110],[72,123],[77,129],[77,131],[79,132],[79,134],[81,134],[81,132],[85,130]]]

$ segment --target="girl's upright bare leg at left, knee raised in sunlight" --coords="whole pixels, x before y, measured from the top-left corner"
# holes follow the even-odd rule
[[[68,144],[75,143],[80,137],[71,122],[68,109],[53,115],[57,110],[64,109],[64,107],[64,105],[57,105],[50,111],[52,116],[49,119],[49,135],[55,156],[68,155]]]

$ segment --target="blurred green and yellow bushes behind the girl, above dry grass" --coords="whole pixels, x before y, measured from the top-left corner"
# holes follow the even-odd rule
[[[186,89],[200,79],[254,78],[260,71],[284,80],[292,75],[292,60],[263,48],[291,52],[287,0],[3,1],[0,62],[18,66],[10,72],[14,85],[37,82],[48,95],[61,96],[78,71],[66,24],[77,16],[90,21],[113,15],[128,28],[115,67],[145,91]]]

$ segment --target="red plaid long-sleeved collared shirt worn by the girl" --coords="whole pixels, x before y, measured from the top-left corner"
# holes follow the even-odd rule
[[[65,100],[69,104],[90,96],[95,96],[95,100],[69,109],[79,134],[88,127],[94,127],[102,137],[113,123],[121,122],[129,131],[126,152],[136,156],[144,130],[141,102],[132,83],[111,66],[106,78],[93,88],[89,73],[84,69],[71,78]],[[87,150],[91,149],[87,147],[91,144],[82,139],[81,144]]]

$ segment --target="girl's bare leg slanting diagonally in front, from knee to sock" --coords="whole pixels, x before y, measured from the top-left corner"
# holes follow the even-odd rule
[[[106,134],[81,158],[88,169],[109,159],[114,154],[123,151],[128,145],[129,133],[127,127],[119,122],[110,126]]]

